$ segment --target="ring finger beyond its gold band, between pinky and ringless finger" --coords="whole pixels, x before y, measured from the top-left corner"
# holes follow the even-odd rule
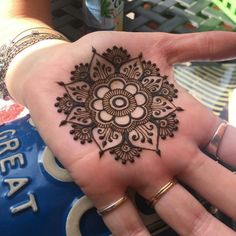
[[[180,235],[235,236],[233,230],[212,216],[180,184],[175,184],[159,199],[155,210]]]

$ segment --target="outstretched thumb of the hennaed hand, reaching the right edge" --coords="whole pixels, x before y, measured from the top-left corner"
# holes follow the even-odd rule
[[[236,33],[202,32],[173,34],[167,50],[169,64],[198,61],[225,60],[236,58]]]

